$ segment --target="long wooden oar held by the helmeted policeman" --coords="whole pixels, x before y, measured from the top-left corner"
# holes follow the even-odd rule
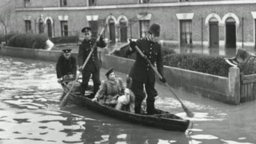
[[[130,42],[131,42],[131,39],[130,39]],[[156,67],[154,67],[154,65],[152,65],[152,63],[148,60],[147,56],[145,56],[145,54],[143,54],[143,52],[141,52],[141,50],[139,49],[139,47],[137,47],[137,45],[135,45],[135,49],[136,49],[136,51],[138,51],[138,52],[140,53],[140,55],[142,56],[142,58],[144,58],[145,61],[147,61],[147,63],[148,63],[148,64],[150,65],[150,67],[154,70],[154,72],[156,72],[157,76],[158,76],[160,79],[163,79],[163,77],[161,76],[161,74],[159,74],[159,72],[157,71]],[[191,111],[189,111],[189,109],[183,104],[183,102],[179,99],[179,97],[176,95],[176,93],[173,92],[173,90],[172,90],[172,88],[169,86],[169,84],[166,83],[166,82],[165,82],[164,84],[165,84],[165,86],[166,86],[167,88],[169,88],[169,90],[170,90],[170,91],[172,92],[172,94],[176,97],[176,99],[179,100],[179,102],[180,102],[182,108],[184,109],[184,111],[186,112],[187,116],[188,116],[188,117],[193,117],[194,114],[193,114]]]

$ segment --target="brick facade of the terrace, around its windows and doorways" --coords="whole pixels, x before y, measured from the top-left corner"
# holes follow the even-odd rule
[[[82,0],[76,0],[79,4]],[[116,0],[117,1],[117,0]],[[121,0],[118,0],[121,1]],[[134,0],[135,1],[135,0]],[[113,1],[112,1],[113,2]],[[115,1],[114,1],[115,2]],[[124,2],[124,1],[123,1]],[[132,1],[128,1],[131,3]],[[127,3],[128,3],[127,2]],[[100,3],[100,1],[98,1]],[[121,3],[121,2],[120,2]],[[102,3],[103,4],[103,3]],[[166,6],[166,7],[142,7],[142,8],[102,8],[102,9],[84,9],[84,10],[51,10],[51,11],[20,11],[17,12],[16,22],[17,30],[24,32],[24,15],[31,15],[32,30],[35,32],[35,19],[42,14],[44,17],[51,16],[54,20],[55,36],[60,36],[60,21],[58,15],[68,15],[68,35],[77,35],[81,28],[88,26],[86,15],[99,15],[100,20],[106,19],[110,14],[118,19],[120,15],[125,15],[127,19],[137,19],[136,15],[141,12],[151,13],[150,24],[157,23],[161,25],[161,39],[174,40],[179,42],[179,20],[175,13],[194,13],[192,20],[192,40],[193,44],[200,44],[202,37],[204,44],[209,41],[209,26],[205,26],[205,18],[210,13],[216,13],[222,19],[227,13],[234,13],[239,18],[240,25],[237,26],[237,42],[242,41],[242,17],[244,18],[244,42],[253,44],[254,39],[254,21],[251,12],[255,12],[256,4],[229,4],[229,5],[201,5],[201,6]],[[101,27],[99,26],[99,29]],[[116,37],[119,29],[116,28]],[[46,32],[46,28],[45,28]],[[105,36],[109,37],[108,29]],[[38,30],[36,31],[38,33]],[[127,37],[131,37],[131,28],[127,29]],[[80,33],[81,34],[81,33]],[[202,36],[203,34],[203,36]],[[225,40],[225,24],[219,26],[220,41]],[[81,35],[82,36],[82,35]],[[120,36],[120,33],[119,33]],[[132,38],[139,37],[139,22],[132,24]],[[205,43],[206,42],[206,43]]]

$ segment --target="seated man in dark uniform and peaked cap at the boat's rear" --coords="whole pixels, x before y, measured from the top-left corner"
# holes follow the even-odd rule
[[[65,78],[74,78],[76,77],[76,58],[71,55],[71,49],[63,49],[63,54],[58,59],[56,65],[56,72],[58,83],[65,81]]]

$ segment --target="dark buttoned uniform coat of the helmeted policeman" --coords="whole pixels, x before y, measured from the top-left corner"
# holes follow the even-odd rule
[[[157,42],[151,42],[147,40],[147,38],[141,38],[136,41],[136,45],[139,47],[141,52],[147,56],[148,60],[155,65],[157,65],[157,71],[161,76],[163,76],[163,59],[162,59],[162,52],[161,52],[161,45]],[[132,54],[135,52],[136,49],[130,51],[127,49],[126,54]],[[144,58],[136,52],[136,61],[131,68],[129,76],[132,77],[133,80],[139,81],[141,83],[147,83],[148,80],[150,82],[155,82],[155,72],[154,70],[148,65]]]

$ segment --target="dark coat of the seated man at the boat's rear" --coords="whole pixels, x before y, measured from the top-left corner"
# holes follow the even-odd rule
[[[57,78],[63,77],[67,74],[74,74],[76,76],[76,58],[70,56],[67,60],[63,55],[60,56],[56,64]]]

